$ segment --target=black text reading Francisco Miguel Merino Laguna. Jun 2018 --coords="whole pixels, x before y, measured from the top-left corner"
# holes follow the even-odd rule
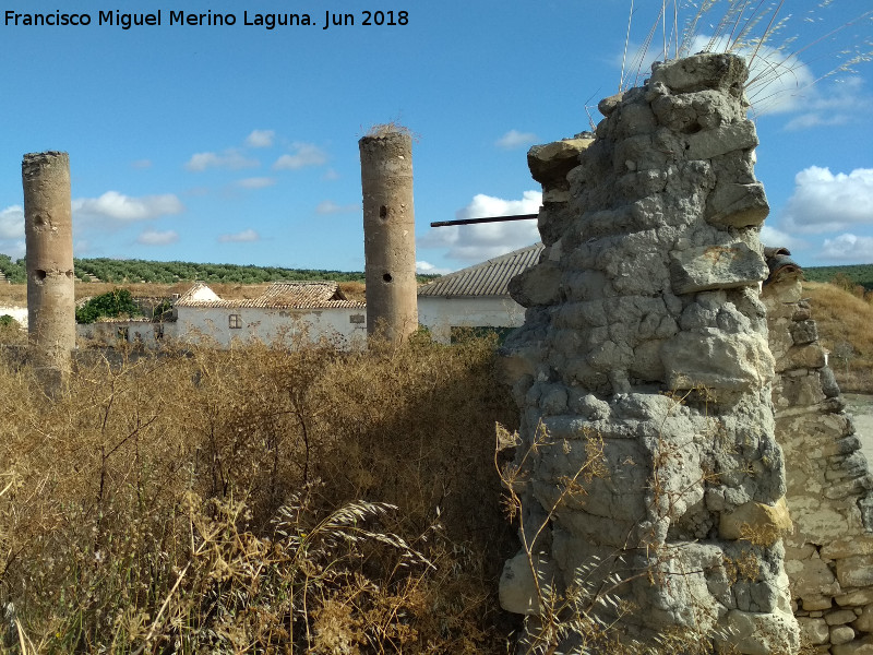
[[[407,25],[409,23],[409,12],[407,11],[361,11],[359,12],[357,24],[359,25]],[[83,26],[92,24],[89,13],[62,13],[57,10],[55,13],[17,13],[14,10],[7,10],[5,25],[13,26],[50,26],[60,27],[64,25]],[[97,25],[117,25],[122,29],[130,29],[134,26],[162,25],[164,15],[162,10],[152,13],[123,13],[119,10],[99,11],[97,13]],[[355,25],[355,14],[332,13],[325,11],[322,29],[327,29],[331,25]],[[237,15],[234,13],[213,13],[212,10],[205,13],[191,13],[182,10],[169,12],[169,25],[207,25],[225,26],[236,25]],[[308,13],[249,13],[242,12],[242,25],[258,25],[265,29],[274,29],[277,26],[295,25],[315,25]]]

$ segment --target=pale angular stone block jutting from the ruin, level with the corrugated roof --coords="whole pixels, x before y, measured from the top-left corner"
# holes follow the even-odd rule
[[[767,272],[764,258],[742,241],[673,252],[670,262],[670,282],[677,295],[757,285]]]

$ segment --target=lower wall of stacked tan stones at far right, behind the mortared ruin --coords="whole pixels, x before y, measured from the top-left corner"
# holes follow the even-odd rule
[[[799,271],[774,258],[764,287],[776,436],[785,451],[786,571],[801,630],[820,653],[873,654],[873,477],[826,366]]]

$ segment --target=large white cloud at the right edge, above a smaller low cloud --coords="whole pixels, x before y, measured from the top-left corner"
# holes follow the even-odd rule
[[[832,174],[811,166],[794,176],[794,192],[784,212],[791,231],[816,234],[873,225],[873,168]]]

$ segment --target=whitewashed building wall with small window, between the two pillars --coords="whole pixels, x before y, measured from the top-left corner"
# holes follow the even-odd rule
[[[264,308],[179,307],[176,334],[192,342],[213,341],[227,347],[232,341],[271,343],[277,338],[309,342],[339,340],[343,345],[367,336],[367,311],[362,308],[280,310]],[[230,315],[239,327],[230,327]]]

